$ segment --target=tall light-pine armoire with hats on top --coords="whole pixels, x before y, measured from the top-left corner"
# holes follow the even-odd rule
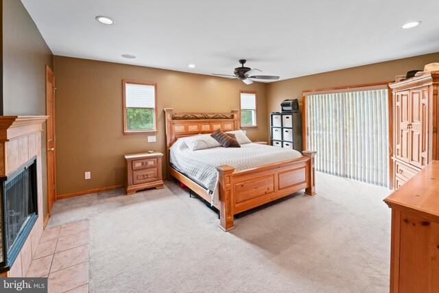
[[[393,98],[393,187],[438,159],[439,71],[389,84]]]

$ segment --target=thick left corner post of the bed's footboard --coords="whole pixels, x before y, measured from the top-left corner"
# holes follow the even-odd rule
[[[235,168],[228,165],[217,167],[219,178],[219,227],[224,231],[230,231],[233,226],[233,189],[231,188],[232,173]]]

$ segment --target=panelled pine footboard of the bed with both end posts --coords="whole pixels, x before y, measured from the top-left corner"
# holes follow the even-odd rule
[[[233,215],[259,207],[305,189],[305,194],[316,194],[314,156],[316,152],[304,151],[303,157],[252,169],[235,171],[222,165],[219,172],[219,226],[229,231]]]

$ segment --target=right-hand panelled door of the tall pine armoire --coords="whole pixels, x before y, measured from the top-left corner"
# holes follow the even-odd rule
[[[420,168],[427,165],[428,91],[428,86],[410,91],[409,163]]]

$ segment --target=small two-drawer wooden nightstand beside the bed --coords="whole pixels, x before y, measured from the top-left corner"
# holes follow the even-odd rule
[[[141,189],[163,188],[162,156],[160,152],[125,155],[125,191],[135,194]]]

